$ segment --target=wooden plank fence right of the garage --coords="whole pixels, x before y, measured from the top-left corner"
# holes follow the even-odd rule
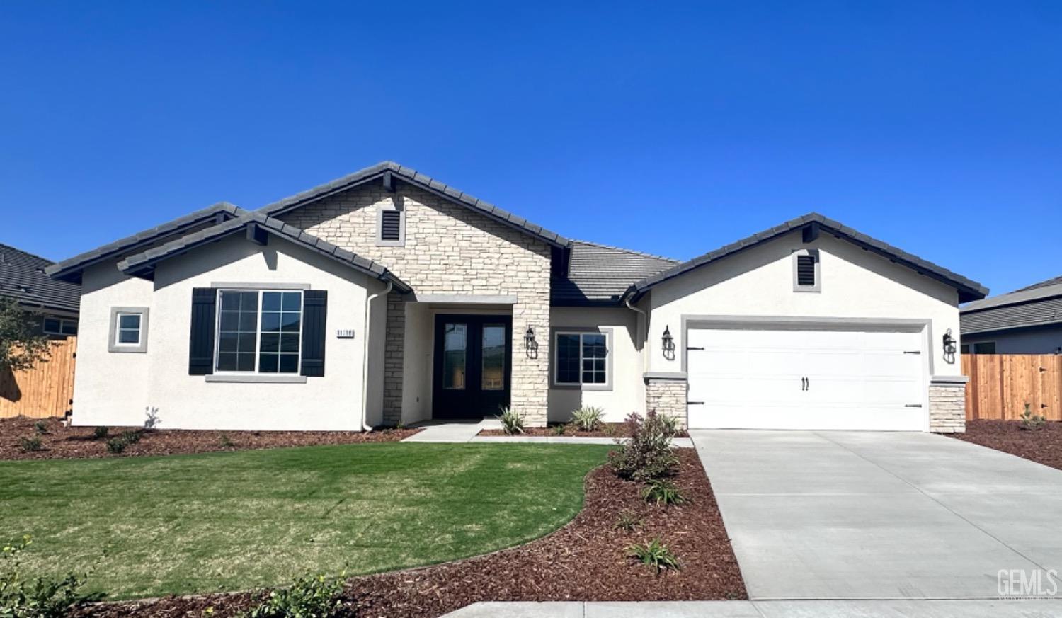
[[[1040,354],[962,355],[966,420],[1014,420],[1025,405],[1048,420],[1062,420],[1062,356]]]

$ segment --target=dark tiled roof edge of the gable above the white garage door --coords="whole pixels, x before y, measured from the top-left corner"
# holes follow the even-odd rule
[[[846,240],[856,244],[867,251],[876,253],[893,262],[903,264],[927,277],[947,284],[959,291],[960,303],[977,301],[983,298],[989,293],[988,288],[976,281],[967,279],[962,275],[953,273],[943,267],[939,267],[915,255],[911,255],[901,248],[892,246],[891,244],[877,240],[876,238],[867,236],[866,234],[847,227],[839,221],[827,219],[818,212],[811,212],[803,217],[798,217],[796,219],[791,219],[781,225],[775,225],[770,229],[766,229],[759,234],[754,234],[748,238],[743,238],[737,242],[727,244],[726,246],[717,248],[700,257],[696,257],[662,273],[646,277],[631,286],[627,291],[626,296],[632,299],[637,299],[653,286],[673,279],[674,277],[686,274],[693,269],[715,262],[716,260],[722,259],[749,247],[756,246],[784,234],[789,234],[798,229],[808,230],[812,235],[818,235],[820,231],[829,234],[841,240]]]

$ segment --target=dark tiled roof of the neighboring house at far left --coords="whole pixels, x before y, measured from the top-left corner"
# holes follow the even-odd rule
[[[45,274],[51,260],[0,244],[0,296],[28,306],[78,312],[81,286]]]

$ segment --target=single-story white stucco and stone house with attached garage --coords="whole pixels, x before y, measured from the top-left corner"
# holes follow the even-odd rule
[[[358,430],[597,406],[691,427],[961,431],[980,285],[820,214],[686,262],[570,240],[394,162],[49,269],[73,423]],[[953,336],[955,333],[955,336]]]

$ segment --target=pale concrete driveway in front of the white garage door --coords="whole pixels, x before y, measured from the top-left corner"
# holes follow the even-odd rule
[[[754,600],[1062,597],[1060,470],[927,433],[690,434]]]

